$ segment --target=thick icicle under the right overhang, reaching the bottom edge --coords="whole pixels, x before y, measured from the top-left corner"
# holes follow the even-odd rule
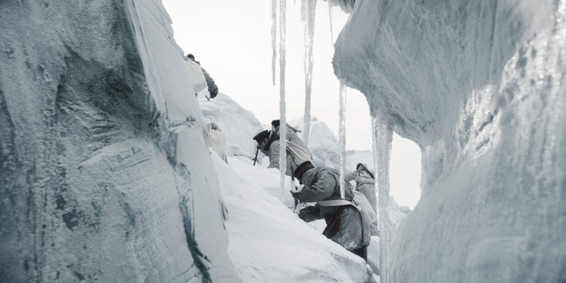
[[[375,187],[378,188],[378,221],[379,221],[379,278],[381,283],[389,283],[389,157],[391,157],[391,141],[393,125],[389,116],[380,113],[372,119],[374,168],[376,172]]]

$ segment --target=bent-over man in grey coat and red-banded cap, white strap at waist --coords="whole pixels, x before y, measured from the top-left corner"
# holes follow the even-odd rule
[[[295,178],[305,185],[293,198],[301,203],[313,203],[299,211],[305,222],[318,219],[326,221],[323,235],[356,254],[367,262],[367,246],[370,245],[370,221],[354,206],[354,194],[346,182],[345,199],[340,194],[340,173],[328,167],[316,167],[310,161],[300,164],[294,171]]]

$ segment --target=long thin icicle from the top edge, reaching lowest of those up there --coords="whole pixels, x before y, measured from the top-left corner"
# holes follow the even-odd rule
[[[285,22],[286,22],[286,0],[280,0],[279,7],[279,84],[280,101],[279,108],[281,118],[279,119],[279,171],[281,172],[281,203],[285,195],[285,171],[287,170],[287,123],[285,119]]]

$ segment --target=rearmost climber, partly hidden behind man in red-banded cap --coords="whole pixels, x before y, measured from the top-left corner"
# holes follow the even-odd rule
[[[371,208],[375,213],[378,213],[376,208],[378,200],[375,195],[375,179],[374,174],[370,171],[370,169],[367,169],[365,164],[358,163],[358,165],[356,165],[356,170],[351,171],[351,173],[346,175],[345,179],[346,182],[355,181],[356,185],[354,190],[357,190],[366,196],[366,199],[371,204]],[[378,221],[371,223],[370,230],[372,236],[379,236]]]

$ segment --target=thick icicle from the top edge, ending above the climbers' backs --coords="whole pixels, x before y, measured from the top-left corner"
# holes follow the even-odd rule
[[[303,22],[303,35],[305,37],[305,129],[303,130],[303,141],[308,148],[308,135],[311,128],[311,90],[312,90],[312,43],[315,36],[315,12],[316,0],[302,0],[301,20]]]

